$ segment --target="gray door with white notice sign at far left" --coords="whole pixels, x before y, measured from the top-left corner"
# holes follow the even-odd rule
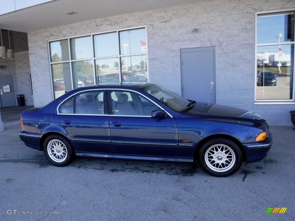
[[[0,77],[0,98],[1,107],[16,105],[12,76]]]

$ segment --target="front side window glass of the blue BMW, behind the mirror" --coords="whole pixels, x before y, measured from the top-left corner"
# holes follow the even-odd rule
[[[142,95],[131,91],[111,91],[112,112],[114,115],[151,116],[152,110],[159,107]]]

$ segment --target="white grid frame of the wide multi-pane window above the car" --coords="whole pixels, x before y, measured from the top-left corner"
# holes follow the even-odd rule
[[[60,63],[66,63],[69,62],[70,63],[70,72],[71,72],[71,81],[72,81],[72,90],[74,89],[74,82],[73,82],[73,70],[72,70],[72,62],[77,62],[77,61],[92,61],[93,64],[93,77],[94,77],[94,82],[96,84],[96,69],[95,69],[95,60],[98,59],[104,59],[104,58],[116,58],[118,57],[118,72],[119,72],[119,82],[122,82],[122,70],[121,70],[121,57],[131,57],[131,56],[137,56],[137,55],[146,55],[146,59],[147,59],[147,73],[149,73],[148,71],[148,50],[146,50],[145,53],[136,53],[136,54],[127,54],[127,55],[120,55],[120,39],[119,39],[119,32],[121,31],[126,31],[126,30],[134,30],[134,29],[140,29],[140,28],[144,28],[145,29],[145,42],[148,42],[148,37],[147,37],[147,26],[137,26],[137,27],[128,27],[128,28],[122,28],[122,29],[115,29],[115,30],[108,30],[108,31],[103,31],[103,32],[95,32],[95,33],[91,33],[91,34],[81,34],[81,35],[76,35],[76,36],[71,36],[71,37],[63,37],[63,38],[58,38],[58,39],[52,39],[52,40],[47,40],[47,48],[48,48],[48,59],[49,59],[49,70],[50,70],[50,81],[51,81],[51,96],[52,99],[56,99],[55,98],[55,93],[54,93],[54,85],[53,85],[53,73],[52,73],[52,68],[51,66],[53,64],[60,64]],[[95,57],[95,49],[94,49],[94,35],[97,34],[106,34],[106,33],[111,33],[111,32],[116,32],[117,34],[117,44],[118,44],[118,51],[117,51],[117,55],[113,55],[113,56],[104,56],[104,57]],[[78,37],[86,37],[86,36],[90,36],[91,37],[91,44],[92,44],[92,57],[91,58],[86,58],[86,59],[76,59],[76,60],[72,60],[72,55],[71,55],[71,39],[73,38],[78,38]],[[61,40],[68,40],[68,52],[69,52],[69,60],[66,61],[58,61],[58,62],[51,62],[51,55],[50,55],[50,42],[55,42],[55,41],[61,41]],[[147,79],[149,82],[149,75],[147,75]]]

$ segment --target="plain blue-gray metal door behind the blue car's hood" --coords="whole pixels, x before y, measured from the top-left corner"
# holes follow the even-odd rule
[[[182,95],[215,103],[215,47],[180,50]]]

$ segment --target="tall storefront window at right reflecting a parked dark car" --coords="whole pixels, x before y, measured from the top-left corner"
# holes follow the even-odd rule
[[[294,102],[294,11],[258,14],[256,102]]]

